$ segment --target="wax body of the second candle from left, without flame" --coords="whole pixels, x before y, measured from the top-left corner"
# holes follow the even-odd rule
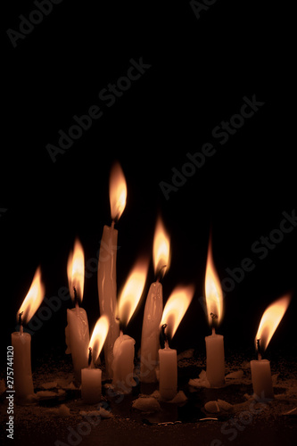
[[[87,347],[89,344],[89,329],[86,310],[76,306],[67,309],[65,328],[67,354],[71,354],[75,380],[81,382],[81,369],[87,368]]]

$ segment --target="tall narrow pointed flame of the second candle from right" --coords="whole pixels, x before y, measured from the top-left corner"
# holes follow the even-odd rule
[[[223,318],[223,291],[212,259],[211,242],[209,244],[209,252],[207,255],[204,286],[207,316],[211,326],[212,318],[210,317],[210,313],[214,313],[218,316],[216,319],[218,323]]]

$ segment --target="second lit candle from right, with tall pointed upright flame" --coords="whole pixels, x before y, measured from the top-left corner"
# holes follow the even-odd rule
[[[224,336],[216,334],[215,326],[223,316],[223,292],[212,259],[211,241],[205,273],[205,297],[208,320],[212,328],[211,335],[205,337],[206,376],[211,387],[220,387],[225,384]]]

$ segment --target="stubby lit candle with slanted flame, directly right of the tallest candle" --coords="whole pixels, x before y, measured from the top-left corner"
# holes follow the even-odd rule
[[[147,274],[147,261],[139,261],[130,273],[120,293],[118,315],[120,326],[127,326],[144,291]],[[134,349],[135,340],[128,335],[120,336],[113,346],[113,386],[123,393],[131,392],[134,385]]]

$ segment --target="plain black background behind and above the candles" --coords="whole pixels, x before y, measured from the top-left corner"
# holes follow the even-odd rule
[[[268,236],[296,209],[293,148],[293,56],[290,11],[268,3],[218,0],[199,20],[189,2],[100,5],[63,0],[14,48],[7,29],[19,31],[20,14],[33,2],[4,2],[3,130],[1,150],[2,341],[10,343],[38,265],[46,297],[67,286],[66,264],[76,236],[86,261],[95,258],[104,224],[110,224],[109,174],[120,161],[128,202],[119,224],[118,287],[141,254],[152,257],[159,212],[171,236],[171,267],[163,280],[164,301],[179,284],[195,285],[194,300],[172,346],[203,352],[210,333],[200,303],[209,242],[219,277],[248,257],[255,268],[227,293],[219,333],[228,351],[247,358],[260,317],[284,293],[293,301],[267,355],[295,349],[296,233],[268,250],[252,244]],[[3,7],[4,7],[3,6]],[[271,9],[270,9],[271,8]],[[276,21],[277,20],[277,21]],[[276,26],[277,23],[277,26]],[[130,60],[151,65],[108,107],[98,98],[127,74]],[[224,145],[211,136],[243,105],[243,96],[265,103]],[[73,116],[98,105],[103,117],[53,162],[45,146],[57,145]],[[171,183],[186,153],[211,143],[216,153],[166,200],[159,186]],[[144,299],[128,325],[140,347]],[[43,304],[46,306],[46,304]],[[63,350],[66,309],[62,303],[32,336],[32,357]],[[96,273],[86,278],[82,306],[92,328],[99,317]],[[4,352],[2,357],[4,358]]]

